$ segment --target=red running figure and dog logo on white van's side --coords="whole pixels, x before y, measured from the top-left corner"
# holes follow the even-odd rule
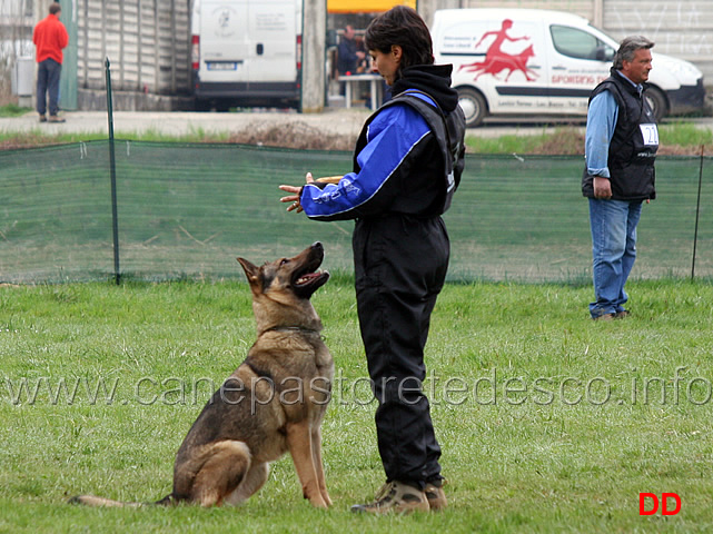
[[[505,81],[509,80],[509,77],[513,76],[513,72],[522,72],[525,75],[527,81],[534,81],[537,78],[537,73],[532,69],[527,68],[527,61],[529,58],[535,57],[535,51],[532,44],[525,48],[519,53],[507,53],[502,50],[502,46],[505,41],[523,41],[529,40],[529,37],[511,37],[507,33],[513,27],[513,21],[511,19],[503,20],[499,30],[486,31],[483,33],[483,37],[478,40],[475,48],[477,49],[485,39],[495,36],[495,40],[491,43],[487,51],[485,52],[485,59],[475,63],[462,65],[458,70],[466,70],[468,72],[475,72],[475,80],[477,80],[483,75],[492,75],[494,78],[497,78],[497,75],[507,70],[507,77]],[[531,78],[532,76],[532,78]]]

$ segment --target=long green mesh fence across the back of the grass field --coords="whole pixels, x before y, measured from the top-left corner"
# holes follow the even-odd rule
[[[112,278],[109,142],[0,152],[0,281]],[[235,145],[115,141],[123,278],[236,278],[254,263],[325,244],[325,267],[351,271],[351,221],[287,214],[280,184],[346,172],[347,152]],[[452,280],[591,277],[580,157],[468,156],[445,219]],[[702,174],[701,174],[702,169]],[[711,158],[660,157],[658,199],[645,205],[632,276],[713,275]]]

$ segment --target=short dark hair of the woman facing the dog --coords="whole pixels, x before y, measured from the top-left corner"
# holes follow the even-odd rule
[[[372,21],[364,34],[367,50],[389,53],[392,46],[402,47],[399,70],[414,65],[433,65],[433,42],[424,19],[415,9],[396,6]]]

